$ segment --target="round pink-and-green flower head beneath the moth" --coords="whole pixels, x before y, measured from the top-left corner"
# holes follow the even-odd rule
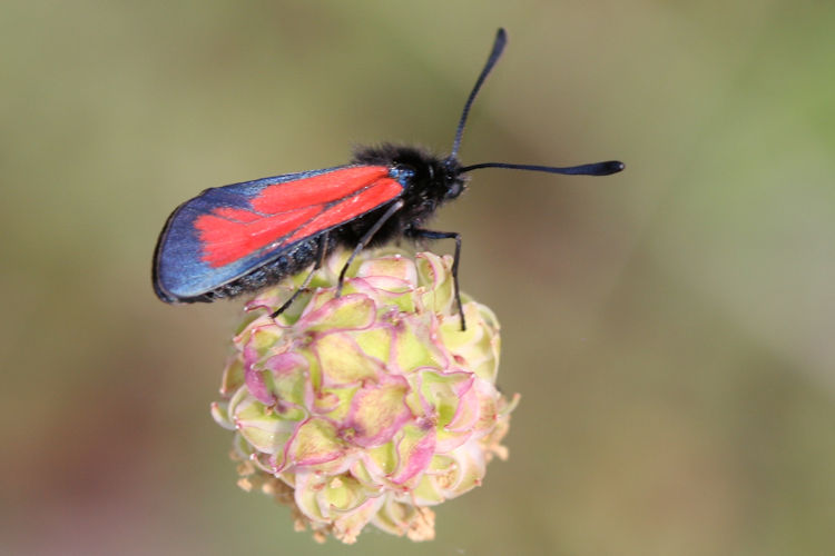
[[[235,430],[238,484],[294,509],[317,539],[352,543],[371,523],[434,536],[433,506],[481,484],[505,456],[509,401],[495,388],[499,324],[464,296],[450,257],[331,257],[305,292],[269,317],[301,278],[247,304],[213,416]]]

